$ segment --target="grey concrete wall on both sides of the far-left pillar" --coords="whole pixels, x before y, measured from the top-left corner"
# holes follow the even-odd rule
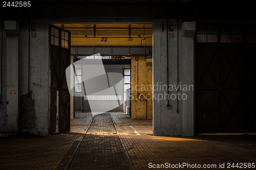
[[[19,21],[20,62],[19,62],[19,132],[33,135],[48,135],[49,124],[49,23],[44,19],[31,19],[36,37],[29,27],[29,19]],[[2,27],[1,27],[2,28]],[[1,34],[2,35],[2,34]],[[7,132],[6,113],[6,35],[3,43],[3,103],[0,103],[0,132]],[[29,37],[30,36],[30,37]],[[29,48],[30,39],[30,48]],[[29,60],[30,50],[30,60]],[[29,72],[30,70],[30,72]]]

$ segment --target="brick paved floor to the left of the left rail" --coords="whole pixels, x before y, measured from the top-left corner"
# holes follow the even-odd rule
[[[0,169],[56,169],[71,155],[92,114],[78,114],[71,121],[71,133],[47,137],[0,137]]]

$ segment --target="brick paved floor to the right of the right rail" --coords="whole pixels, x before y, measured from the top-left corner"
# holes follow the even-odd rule
[[[205,169],[223,169],[219,168],[219,163],[256,163],[255,135],[152,136],[152,120],[134,120],[125,114],[112,114],[112,117],[135,169],[149,169],[150,162],[153,164],[184,162],[202,166],[216,164],[218,167]],[[131,125],[140,135],[134,132]]]

